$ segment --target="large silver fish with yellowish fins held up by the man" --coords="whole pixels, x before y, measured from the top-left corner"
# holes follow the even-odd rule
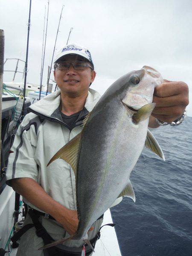
[[[79,225],[69,239],[83,240],[93,250],[87,232],[116,198],[136,200],[130,174],[144,145],[165,160],[157,140],[148,130],[154,88],[161,74],[144,66],[115,81],[85,117],[81,133],[49,161],[63,159],[76,177]],[[40,249],[60,244],[61,239]]]

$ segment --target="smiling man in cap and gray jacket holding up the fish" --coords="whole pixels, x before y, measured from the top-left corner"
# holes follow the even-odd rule
[[[32,223],[33,215],[38,215],[47,233],[58,240],[74,234],[78,226],[75,176],[69,164],[61,159],[48,167],[47,163],[82,130],[82,120],[100,96],[89,89],[96,73],[86,48],[76,44],[63,47],[55,58],[54,68],[60,90],[30,106],[31,113],[23,119],[11,149],[14,152],[9,157],[7,184],[23,196],[29,207],[40,212],[30,210],[25,224]],[[157,105],[149,121],[152,128],[182,116],[188,105],[188,87],[183,82],[165,81],[156,87],[154,102]],[[46,218],[42,212],[55,220]],[[102,218],[93,224],[88,232],[89,239],[96,237],[101,224]],[[44,243],[35,231],[32,227],[21,237],[17,256],[53,255],[38,251]],[[82,241],[70,240],[64,245],[62,249],[69,254],[63,255],[74,255],[76,247],[82,247]]]

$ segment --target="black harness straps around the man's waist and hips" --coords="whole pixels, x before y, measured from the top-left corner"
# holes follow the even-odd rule
[[[45,213],[39,212],[35,209],[29,209],[28,213],[32,219],[33,224],[26,224],[25,226],[23,226],[17,233],[14,234],[14,236],[12,236],[11,241],[16,242],[27,230],[29,230],[31,227],[35,227],[36,234],[38,237],[41,237],[43,239],[44,245],[53,242],[54,239],[52,239],[49,233],[47,233],[47,230],[42,226],[38,218],[41,215],[44,215],[45,218],[51,218],[51,219],[54,219],[54,218],[52,218],[52,216],[50,215],[47,216]],[[103,215],[98,219],[100,218],[103,218]],[[106,224],[106,225],[111,227],[115,226],[115,224]],[[106,225],[103,225],[103,226],[106,226]],[[100,227],[99,232],[96,234],[96,236],[90,240],[90,243],[92,244],[93,248],[95,248],[96,241],[100,238],[100,230],[102,227]],[[85,251],[86,251],[86,256],[92,253],[92,250],[87,244],[85,245]],[[48,249],[45,249],[44,256],[81,256],[81,248],[67,247],[62,244],[58,244],[57,246],[53,246],[53,247],[49,247]]]

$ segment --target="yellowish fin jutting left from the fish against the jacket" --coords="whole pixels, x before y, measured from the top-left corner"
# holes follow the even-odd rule
[[[56,159],[63,159],[73,168],[73,171],[77,173],[77,160],[79,155],[79,147],[81,141],[81,132],[76,135],[70,142],[68,142],[64,147],[59,149],[59,151],[51,158],[47,166]]]

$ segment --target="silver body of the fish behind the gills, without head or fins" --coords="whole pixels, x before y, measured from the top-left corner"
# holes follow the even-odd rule
[[[117,80],[93,109],[84,127],[77,174],[79,229],[81,239],[128,184],[143,150],[148,119],[138,125],[122,104],[125,81]],[[125,87],[126,88],[126,87]],[[153,93],[153,92],[152,92]],[[130,116],[129,116],[130,115]]]

